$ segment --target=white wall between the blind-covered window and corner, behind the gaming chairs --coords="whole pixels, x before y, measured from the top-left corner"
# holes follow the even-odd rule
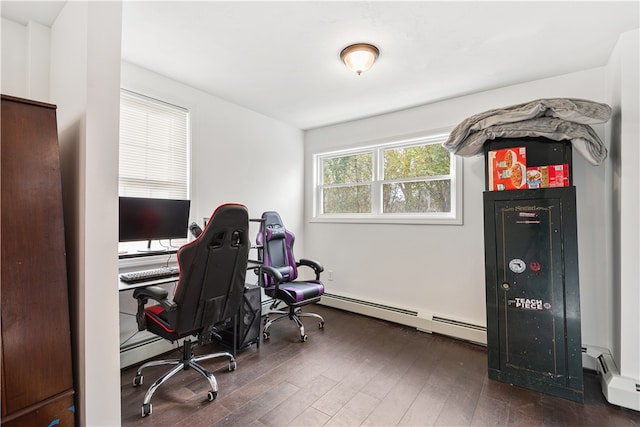
[[[189,110],[191,220],[202,226],[218,205],[239,202],[251,218],[277,210],[302,230],[301,130],[128,63],[122,87]]]

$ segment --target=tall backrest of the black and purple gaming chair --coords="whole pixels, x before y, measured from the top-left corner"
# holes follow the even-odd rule
[[[263,264],[277,269],[282,274],[284,282],[296,280],[298,269],[293,256],[295,235],[285,228],[277,212],[264,212],[262,220],[256,243],[263,248]],[[275,285],[273,278],[266,274],[262,279],[265,287]]]

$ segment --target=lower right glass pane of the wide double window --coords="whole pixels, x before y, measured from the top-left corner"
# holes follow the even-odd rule
[[[451,211],[451,181],[413,181],[382,186],[383,213]]]

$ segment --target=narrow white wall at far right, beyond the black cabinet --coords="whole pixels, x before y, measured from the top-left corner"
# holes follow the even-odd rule
[[[612,210],[609,259],[614,289],[612,354],[620,375],[640,380],[640,58],[639,31],[621,36],[608,66],[608,92],[614,116],[607,134],[611,140],[608,175]]]

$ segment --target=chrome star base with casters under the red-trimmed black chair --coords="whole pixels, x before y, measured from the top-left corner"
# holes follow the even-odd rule
[[[144,400],[142,402],[142,416],[145,417],[150,415],[153,412],[153,405],[151,404],[151,396],[153,393],[160,387],[165,381],[169,378],[173,377],[180,371],[188,371],[189,369],[193,369],[202,375],[207,381],[209,381],[209,385],[211,386],[211,390],[207,393],[207,399],[209,401],[214,400],[218,396],[218,383],[216,381],[216,377],[209,372],[207,369],[203,368],[198,362],[208,359],[214,359],[218,357],[227,357],[229,358],[229,371],[235,371],[237,367],[236,359],[233,357],[231,353],[226,351],[221,351],[217,353],[209,353],[202,354],[199,356],[194,356],[192,351],[192,342],[189,339],[185,339],[182,346],[182,359],[169,359],[169,360],[152,360],[150,362],[145,363],[144,365],[138,368],[136,372],[136,376],[133,378],[133,386],[138,387],[142,385],[144,376],[142,375],[142,370],[151,366],[161,366],[161,365],[176,365],[173,369],[166,372],[160,378],[158,378],[147,390],[147,393],[144,395]]]

